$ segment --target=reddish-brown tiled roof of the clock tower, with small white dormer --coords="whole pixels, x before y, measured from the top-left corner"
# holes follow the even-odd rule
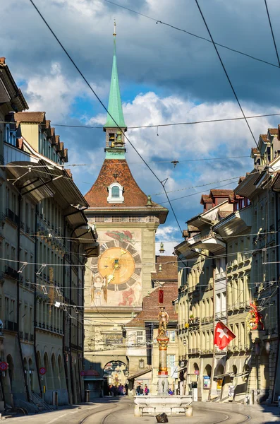
[[[118,182],[118,184],[121,184],[123,187],[124,201],[121,204],[111,204],[107,202],[107,187],[113,182]],[[129,208],[145,207],[147,205],[147,196],[135,182],[125,159],[105,159],[97,180],[87,194],[85,194],[85,199],[87,199],[87,203],[91,208]],[[152,202],[152,207],[150,209],[147,208],[147,211],[150,210],[152,212],[153,207],[167,211],[166,208],[154,202]]]

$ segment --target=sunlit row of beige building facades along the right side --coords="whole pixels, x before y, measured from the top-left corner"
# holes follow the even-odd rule
[[[207,211],[188,220],[185,241],[176,247],[180,384],[197,389],[197,399],[273,402],[279,396],[279,139],[279,129],[260,136],[254,169],[233,192],[221,191],[225,198],[229,192],[224,202],[209,199],[215,190],[202,196]],[[203,261],[211,262],[209,271]],[[203,274],[197,277],[195,267]],[[204,334],[208,304],[212,325]],[[213,344],[218,321],[236,335],[222,351]]]

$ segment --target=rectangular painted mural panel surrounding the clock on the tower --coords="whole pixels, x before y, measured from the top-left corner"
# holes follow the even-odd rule
[[[90,261],[92,307],[133,307],[142,302],[141,230],[99,230],[100,254]]]

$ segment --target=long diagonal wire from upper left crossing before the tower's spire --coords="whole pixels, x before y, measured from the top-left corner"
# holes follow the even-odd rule
[[[173,206],[171,205],[171,201],[169,200],[169,196],[166,193],[166,189],[164,187],[164,182],[161,181],[159,179],[159,177],[157,177],[157,174],[154,172],[154,170],[152,170],[152,168],[150,167],[150,165],[146,162],[146,160],[144,158],[142,158],[142,155],[138,152],[137,148],[135,148],[135,146],[133,146],[133,143],[131,143],[131,141],[128,139],[128,136],[126,136],[125,132],[121,129],[120,126],[118,126],[118,124],[116,123],[116,120],[114,119],[114,117],[111,116],[109,110],[107,110],[106,106],[104,105],[104,103],[102,102],[102,100],[99,98],[99,96],[97,95],[97,93],[95,93],[95,90],[92,88],[92,86],[90,86],[90,83],[87,81],[87,78],[85,78],[85,76],[83,75],[83,72],[80,71],[78,65],[75,64],[75,61],[73,61],[72,57],[70,56],[70,54],[67,52],[66,48],[62,45],[61,41],[59,40],[59,38],[56,36],[56,34],[54,33],[54,31],[51,29],[51,27],[49,26],[49,24],[47,23],[47,20],[45,20],[44,16],[42,16],[42,13],[39,11],[39,9],[37,8],[37,6],[35,5],[35,3],[33,2],[33,0],[30,0],[30,3],[34,6],[35,10],[37,11],[37,13],[39,14],[39,16],[42,18],[42,20],[44,21],[45,25],[47,25],[47,28],[49,28],[49,30],[51,31],[51,34],[54,35],[56,41],[59,43],[59,45],[61,46],[61,49],[63,49],[63,52],[65,52],[66,56],[68,57],[68,59],[72,62],[73,66],[75,66],[75,69],[78,71],[78,73],[80,73],[80,76],[83,78],[83,80],[85,81],[85,83],[87,84],[87,86],[90,88],[90,90],[92,91],[92,93],[95,95],[95,97],[97,98],[97,100],[99,101],[99,103],[102,105],[102,107],[104,108],[104,110],[106,110],[107,114],[109,114],[109,117],[111,117],[111,119],[113,120],[113,122],[116,124],[116,127],[121,131],[121,134],[123,134],[124,138],[128,141],[128,143],[130,143],[130,146],[132,146],[133,150],[135,151],[135,153],[138,154],[138,156],[142,159],[142,161],[145,163],[145,165],[147,165],[148,169],[150,170],[150,172],[152,172],[152,175],[154,175],[154,177],[157,179],[157,181],[162,184],[162,187],[164,189],[164,192],[166,194],[166,199],[169,201],[169,206],[171,208],[171,211],[174,213],[174,218],[176,220],[176,223],[178,224],[178,228],[180,229],[180,231],[182,232],[182,228],[181,225],[178,221],[178,218],[176,216],[176,213],[174,211]],[[166,182],[166,180],[165,180]]]

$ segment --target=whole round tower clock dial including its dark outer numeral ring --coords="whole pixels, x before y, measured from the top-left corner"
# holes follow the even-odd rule
[[[140,255],[133,246],[124,242],[106,242],[100,252],[97,269],[106,278],[108,290],[126,290],[139,280]]]

